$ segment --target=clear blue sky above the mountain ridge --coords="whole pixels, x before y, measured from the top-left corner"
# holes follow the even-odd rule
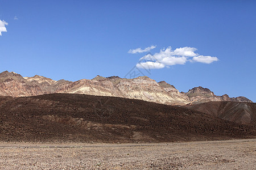
[[[179,91],[203,86],[255,102],[255,8],[256,1],[0,0],[0,71],[55,80],[123,78],[149,61],[155,68],[136,67],[136,75],[166,80]],[[185,47],[194,54],[175,53]],[[160,59],[140,61],[148,52]],[[193,59],[199,56],[217,59]]]

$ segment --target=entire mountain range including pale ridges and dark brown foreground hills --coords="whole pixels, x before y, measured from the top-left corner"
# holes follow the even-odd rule
[[[254,138],[255,113],[256,103],[246,97],[217,96],[203,87],[179,92],[147,76],[71,82],[0,73],[0,141],[5,142]]]

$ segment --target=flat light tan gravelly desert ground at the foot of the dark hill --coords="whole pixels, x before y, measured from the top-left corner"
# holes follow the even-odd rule
[[[256,139],[118,145],[0,143],[0,169],[256,169]]]

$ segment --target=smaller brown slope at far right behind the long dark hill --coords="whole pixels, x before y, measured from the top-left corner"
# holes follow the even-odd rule
[[[256,103],[210,101],[208,103],[187,105],[187,108],[239,124],[256,125]]]

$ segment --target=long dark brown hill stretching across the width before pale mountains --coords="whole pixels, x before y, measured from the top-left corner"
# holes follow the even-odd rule
[[[187,108],[119,97],[0,97],[0,141],[171,142],[254,138],[255,128]]]

